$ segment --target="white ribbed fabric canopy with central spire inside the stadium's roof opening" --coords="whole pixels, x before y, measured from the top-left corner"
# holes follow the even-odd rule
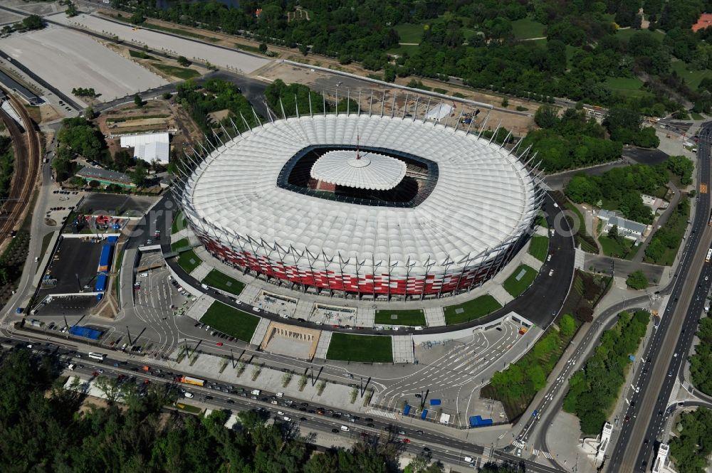
[[[314,163],[311,176],[337,186],[386,191],[402,181],[405,171],[403,161],[385,154],[337,149]]]

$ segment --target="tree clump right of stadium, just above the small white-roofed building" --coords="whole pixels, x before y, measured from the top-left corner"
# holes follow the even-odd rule
[[[641,193],[654,193],[668,181],[664,164],[646,166],[633,164],[614,168],[600,176],[577,174],[566,186],[566,196],[575,203],[618,210],[625,218],[641,223],[651,223],[653,214],[643,204]]]

